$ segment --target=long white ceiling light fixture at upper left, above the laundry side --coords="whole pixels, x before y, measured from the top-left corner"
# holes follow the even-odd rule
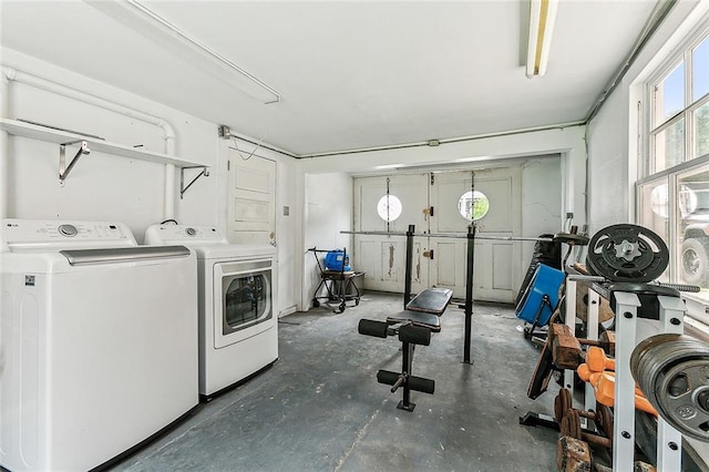
[[[169,48],[182,57],[186,53],[192,54],[195,59],[201,60],[202,64],[209,65],[215,75],[224,82],[263,103],[280,102],[280,94],[274,89],[137,1],[84,1],[107,17]]]

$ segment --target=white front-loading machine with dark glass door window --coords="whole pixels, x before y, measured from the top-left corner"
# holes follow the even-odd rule
[[[229,244],[215,227],[185,225],[153,225],[145,244],[182,244],[197,253],[204,399],[278,359],[274,246]]]

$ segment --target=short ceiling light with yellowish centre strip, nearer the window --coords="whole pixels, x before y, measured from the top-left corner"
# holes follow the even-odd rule
[[[542,76],[546,72],[558,0],[530,0],[528,78]]]

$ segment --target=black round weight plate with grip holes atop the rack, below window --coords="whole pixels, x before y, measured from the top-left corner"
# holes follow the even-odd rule
[[[669,250],[662,238],[643,226],[608,226],[588,243],[586,265],[612,281],[651,281],[668,264]]]

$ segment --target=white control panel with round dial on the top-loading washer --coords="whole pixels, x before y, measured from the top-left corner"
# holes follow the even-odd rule
[[[2,250],[137,246],[123,223],[3,219]]]

